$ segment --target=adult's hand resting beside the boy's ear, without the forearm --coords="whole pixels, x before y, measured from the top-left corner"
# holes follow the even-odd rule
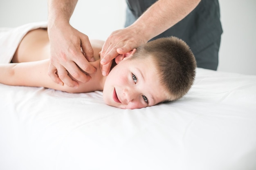
[[[125,54],[136,49],[141,44],[148,42],[147,38],[129,26],[111,33],[101,50],[101,72],[103,76],[108,75],[112,60],[119,54]]]

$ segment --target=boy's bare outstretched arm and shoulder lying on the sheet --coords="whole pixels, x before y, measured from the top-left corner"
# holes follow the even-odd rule
[[[99,60],[92,62],[95,67],[99,66]],[[91,75],[89,82],[81,83],[77,88],[59,85],[52,81],[47,70],[49,59],[35,62],[0,64],[0,83],[11,86],[31,86],[52,88],[69,93],[86,93],[92,91],[101,91],[103,87],[100,84],[101,71]]]

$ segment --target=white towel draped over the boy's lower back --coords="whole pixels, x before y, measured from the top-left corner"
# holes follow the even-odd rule
[[[15,28],[0,28],[0,64],[9,63],[27,32],[47,28],[47,22],[33,22]]]

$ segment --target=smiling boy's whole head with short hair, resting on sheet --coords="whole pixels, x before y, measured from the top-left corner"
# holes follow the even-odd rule
[[[189,46],[175,37],[153,40],[115,61],[103,99],[119,108],[143,108],[179,99],[195,78],[195,57]]]

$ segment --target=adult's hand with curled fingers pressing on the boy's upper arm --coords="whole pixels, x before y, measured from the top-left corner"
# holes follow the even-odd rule
[[[78,87],[78,82],[88,82],[96,71],[88,61],[94,61],[88,36],[74,29],[69,23],[48,27],[50,64],[48,75],[58,84]],[[84,72],[83,72],[84,71]],[[72,79],[73,77],[73,79]],[[75,80],[74,80],[75,79]]]

